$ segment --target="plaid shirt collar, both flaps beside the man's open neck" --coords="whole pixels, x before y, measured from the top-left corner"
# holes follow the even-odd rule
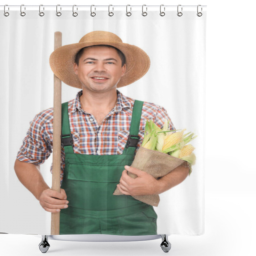
[[[132,107],[132,103],[131,100],[124,96],[123,93],[121,93],[120,91],[116,90],[117,93],[117,102],[116,102],[116,106],[114,107],[114,111],[115,112],[119,112],[121,111],[123,108],[131,108]],[[75,112],[76,109],[78,110],[82,110],[82,106],[81,106],[81,102],[79,97],[83,94],[83,90],[79,91],[76,94],[76,98],[73,101],[73,104],[71,105],[70,111],[71,112]]]

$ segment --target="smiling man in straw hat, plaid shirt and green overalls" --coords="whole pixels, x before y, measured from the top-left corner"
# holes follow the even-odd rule
[[[132,196],[160,194],[182,182],[189,168],[179,166],[156,180],[130,167],[146,120],[161,128],[170,120],[164,108],[117,90],[146,74],[148,55],[113,33],[94,31],[55,50],[50,65],[63,82],[82,88],[62,104],[61,192],[39,172],[52,151],[52,108],[30,124],[14,166],[19,180],[46,211],[60,212],[60,234],[157,234],[153,207]],[[116,186],[124,195],[113,195]]]

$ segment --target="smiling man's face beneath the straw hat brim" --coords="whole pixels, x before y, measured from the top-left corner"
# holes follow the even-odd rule
[[[93,92],[107,92],[116,88],[125,72],[125,64],[116,49],[93,46],[84,49],[79,65],[74,64],[74,72],[78,75],[83,89]]]

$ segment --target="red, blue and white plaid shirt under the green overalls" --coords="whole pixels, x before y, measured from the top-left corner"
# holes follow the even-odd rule
[[[77,93],[74,100],[68,102],[70,130],[74,141],[74,153],[87,155],[119,155],[123,153],[128,139],[132,119],[134,99],[117,91],[116,106],[97,124],[90,113],[85,112]],[[169,129],[174,126],[166,110],[156,104],[144,102],[140,119],[140,140],[135,152],[142,143],[147,119],[153,120],[163,128],[164,119],[170,120]],[[17,159],[33,164],[42,164],[52,153],[53,108],[48,108],[35,116],[23,140]],[[65,168],[64,148],[61,149],[61,180]],[[52,166],[51,166],[52,172]]]

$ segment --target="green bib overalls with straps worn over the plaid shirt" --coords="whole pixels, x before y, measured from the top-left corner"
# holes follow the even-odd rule
[[[65,171],[61,188],[69,201],[60,211],[60,235],[156,235],[157,215],[151,205],[132,196],[114,196],[124,165],[131,165],[138,142],[143,101],[135,100],[130,136],[122,155],[74,154],[68,102],[62,104]],[[131,136],[132,135],[132,136]]]

